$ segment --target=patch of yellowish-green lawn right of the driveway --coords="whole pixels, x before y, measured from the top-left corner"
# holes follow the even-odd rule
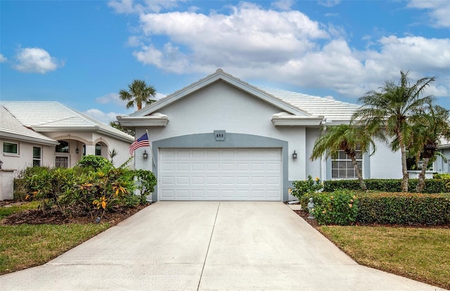
[[[450,229],[321,226],[359,264],[450,289]]]

